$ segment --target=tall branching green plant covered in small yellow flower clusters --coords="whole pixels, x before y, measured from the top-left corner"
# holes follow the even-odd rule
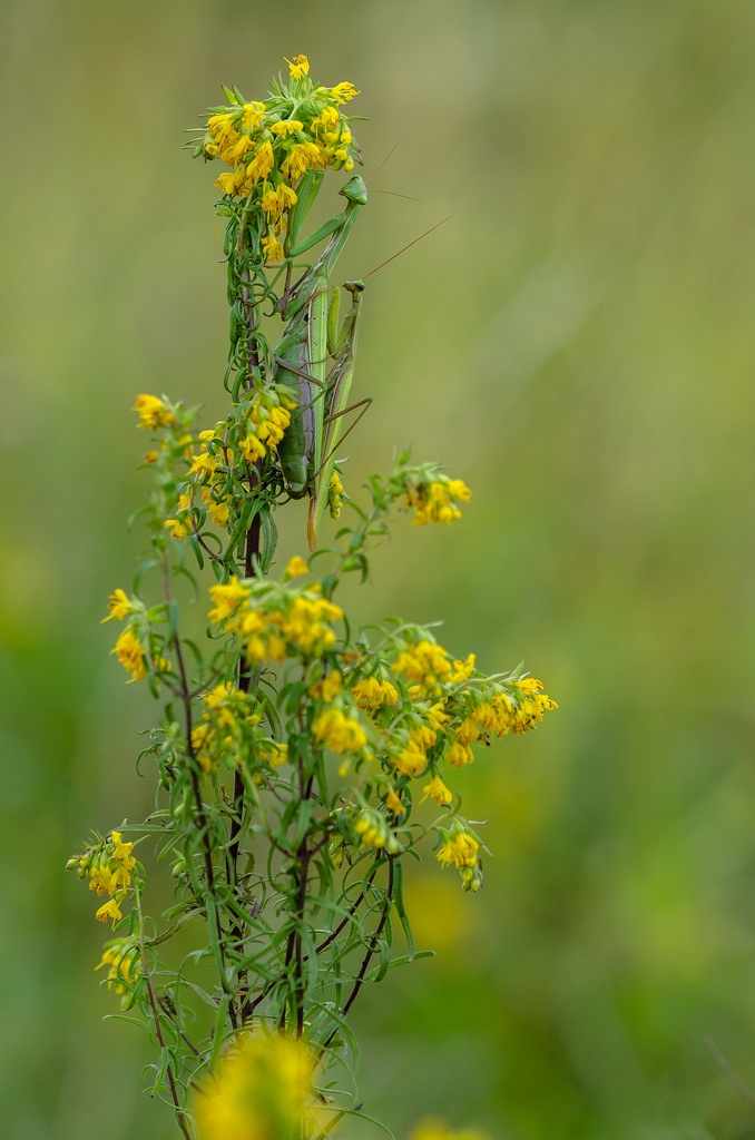
[[[100,967],[122,1016],[157,1047],[148,1091],[182,1135],[324,1140],[342,1117],[364,1116],[355,1001],[421,956],[403,899],[407,857],[435,845],[462,887],[479,889],[484,842],[453,772],[555,705],[521,668],[488,676],[473,654],[454,659],[432,629],[397,619],[354,629],[335,601],[347,575],[366,578],[395,508],[415,526],[453,522],[470,492],[408,454],[368,481],[364,502],[343,490],[336,401],[355,323],[346,318],[348,336],[323,328],[335,311],[330,275],[366,202],[362,179],[330,221],[305,225],[325,172],[350,173],[359,158],[343,112],[354,87],[315,85],[299,56],[265,101],[224,90],[195,154],[228,168],[216,185],[230,401],[197,430],[198,409],[137,398],[152,437],[149,553],[104,619],[121,626],[113,653],[130,679],[162,703],[139,757],[154,767],[155,807],[96,834],[68,868],[103,899],[96,918],[112,920]],[[279,572],[276,512],[305,496],[315,549]],[[344,506],[351,521],[317,546],[325,507],[338,518]],[[187,579],[206,600],[200,641],[186,629]],[[160,917],[147,864],[149,878],[168,864],[174,883]],[[416,1135],[450,1138],[431,1123]]]

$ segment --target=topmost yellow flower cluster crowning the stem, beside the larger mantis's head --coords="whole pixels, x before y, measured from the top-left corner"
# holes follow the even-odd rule
[[[289,64],[291,82],[276,88],[265,103],[218,108],[197,154],[220,158],[230,169],[216,181],[224,194],[249,199],[267,218],[262,253],[268,263],[279,261],[286,214],[297,203],[295,186],[308,170],[354,169],[354,139],[340,107],[358,92],[352,83],[316,87],[309,62],[297,56]]]

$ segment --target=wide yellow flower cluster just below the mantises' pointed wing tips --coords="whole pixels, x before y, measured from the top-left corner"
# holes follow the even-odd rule
[[[237,633],[252,661],[317,657],[335,642],[331,622],[343,617],[343,610],[324,598],[317,586],[255,597],[251,586],[234,577],[228,585],[211,586],[210,596],[214,602],[210,621],[225,621],[229,633]]]

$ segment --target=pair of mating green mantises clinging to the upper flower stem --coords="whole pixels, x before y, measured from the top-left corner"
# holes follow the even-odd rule
[[[306,243],[299,246],[292,243],[293,256],[330,235],[317,261],[294,285],[290,285],[292,262],[289,261],[286,288],[281,302],[289,324],[275,351],[275,383],[293,389],[298,404],[278,445],[278,459],[289,495],[292,498],[309,495],[307,538],[310,549],[317,543],[317,530],[335,464],[335,449],[342,437],[344,413],[349,410],[364,291],[362,282],[344,284],[343,287],[351,294],[351,307],[339,331],[340,292],[336,286],[330,287],[328,278],[358,211],[367,201],[367,190],[357,176],[347,182],[341,194],[347,199],[344,210]],[[292,214],[294,235],[307,209],[305,204],[300,218]],[[334,363],[326,372],[328,360]],[[363,413],[368,402],[360,401]]]

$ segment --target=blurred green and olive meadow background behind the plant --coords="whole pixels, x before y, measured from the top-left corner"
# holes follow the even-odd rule
[[[224,414],[213,168],[181,131],[306,51],[362,90],[367,178],[399,144],[371,189],[416,199],[372,195],[343,278],[453,215],[370,279],[348,475],[412,442],[474,496],[454,530],[399,526],[351,604],[444,618],[455,653],[526,658],[561,705],[462,773],[486,890],[414,871],[439,953],[362,1003],[365,1104],[399,1137],[428,1112],[494,1140],[755,1137],[723,1072],[755,1090],[755,6],[13,0],[0,21],[2,1135],[173,1134],[140,1092],[148,1047],[102,1021],[103,928],[63,868],[151,798],[155,710],[98,625],[143,546],[129,408]]]

